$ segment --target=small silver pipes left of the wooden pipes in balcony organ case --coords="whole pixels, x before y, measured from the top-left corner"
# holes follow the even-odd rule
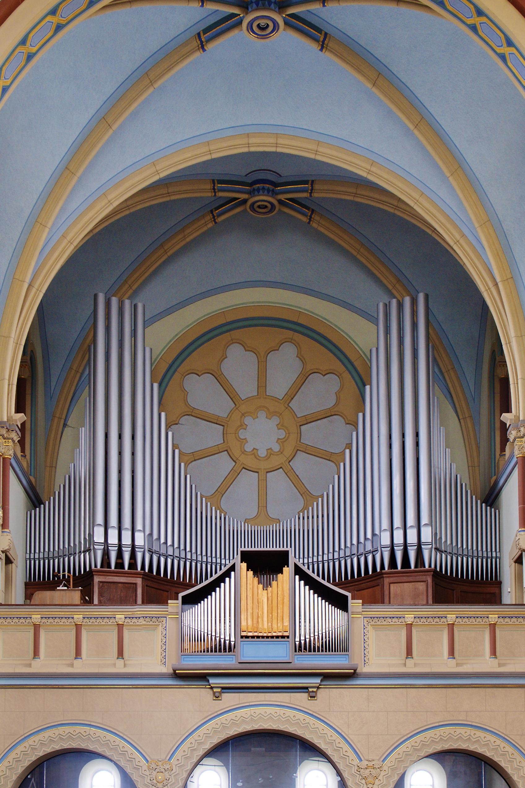
[[[186,654],[235,651],[235,571],[197,604],[183,608],[182,651]]]

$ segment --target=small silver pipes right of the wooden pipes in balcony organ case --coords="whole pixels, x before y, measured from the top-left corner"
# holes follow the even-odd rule
[[[295,575],[295,651],[343,653],[348,645],[348,610],[331,604]]]

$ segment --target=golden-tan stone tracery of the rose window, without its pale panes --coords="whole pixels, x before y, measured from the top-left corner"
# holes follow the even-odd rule
[[[290,343],[298,350],[298,358],[302,362],[302,370],[298,377],[290,385],[282,398],[268,395],[266,386],[266,370],[268,355],[285,344]],[[257,356],[257,395],[246,397],[244,400],[239,396],[235,387],[227,380],[220,370],[220,366],[227,357],[227,348],[231,344],[240,344],[245,351],[250,351]],[[184,381],[187,376],[195,374],[211,374],[216,381],[231,398],[234,407],[226,415],[214,414],[211,411],[203,411],[192,407],[189,402],[188,392],[184,388]],[[298,415],[290,407],[294,397],[301,390],[305,381],[312,374],[326,376],[333,374],[338,377],[339,388],[336,394],[336,402],[331,407],[321,410],[314,410],[311,413]],[[191,463],[199,459],[212,457],[221,452],[227,455],[234,463],[229,473],[217,489],[206,495],[206,500],[217,509],[221,508],[221,499],[224,493],[231,487],[243,469],[250,470],[258,477],[259,505],[257,515],[249,519],[256,525],[267,525],[275,520],[275,516],[268,514],[266,501],[267,474],[273,470],[282,469],[291,481],[294,488],[299,492],[303,500],[301,509],[311,506],[318,498],[296,473],[292,465],[294,456],[297,452],[305,455],[313,455],[316,458],[334,464],[337,472],[338,463],[344,457],[344,448],[341,452],[331,452],[326,448],[319,448],[306,443],[301,439],[301,426],[318,422],[328,416],[337,415],[344,422],[356,426],[357,413],[362,409],[362,400],[356,384],[345,370],[342,364],[335,359],[327,348],[323,348],[314,340],[306,336],[294,334],[292,331],[277,328],[246,328],[238,329],[231,333],[218,336],[203,347],[199,348],[179,367],[172,381],[166,389],[162,400],[163,410],[167,414],[169,426],[178,424],[183,416],[191,415],[200,418],[205,422],[212,422],[223,426],[223,441],[220,444],[203,448],[195,452],[182,452],[181,459],[187,463],[187,470],[191,474]],[[264,413],[266,418],[279,418],[279,429],[283,436],[278,438],[279,451],[268,449],[264,456],[260,456],[257,449],[246,450],[247,441],[242,437],[242,431],[246,429],[246,418],[257,418],[257,414]],[[233,515],[235,516],[235,515]]]

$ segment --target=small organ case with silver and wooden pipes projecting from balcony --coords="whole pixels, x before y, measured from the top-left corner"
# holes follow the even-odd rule
[[[350,595],[283,549],[240,550],[179,595],[177,675],[322,670],[352,674]],[[211,682],[213,683],[213,682]]]

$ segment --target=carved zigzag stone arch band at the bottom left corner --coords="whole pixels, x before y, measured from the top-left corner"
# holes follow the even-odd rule
[[[31,768],[47,757],[71,750],[97,753],[113,760],[136,783],[146,785],[147,760],[128,739],[96,725],[64,723],[35,730],[0,756],[0,782],[17,788]]]

